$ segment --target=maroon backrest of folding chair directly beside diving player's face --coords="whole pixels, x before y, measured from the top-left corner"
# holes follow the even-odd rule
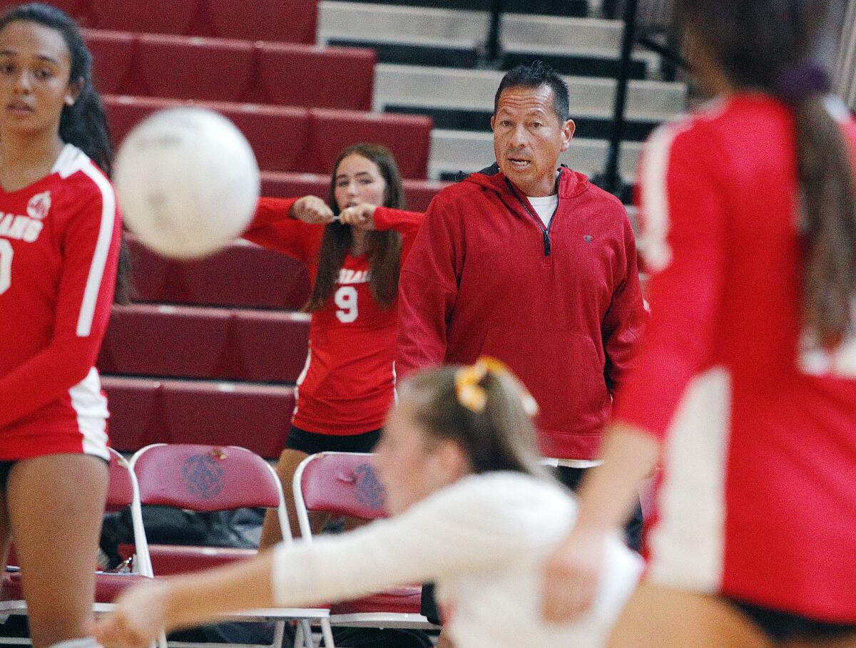
[[[299,507],[302,499],[306,510],[363,520],[388,516],[386,492],[369,454],[322,452],[307,457],[295,473],[294,498]]]

